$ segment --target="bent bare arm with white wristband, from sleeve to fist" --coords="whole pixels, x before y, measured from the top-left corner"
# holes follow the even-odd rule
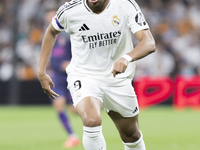
[[[117,74],[124,73],[130,62],[141,59],[155,51],[155,41],[149,29],[137,31],[135,36],[139,40],[139,44],[114,63],[112,71],[114,77]]]

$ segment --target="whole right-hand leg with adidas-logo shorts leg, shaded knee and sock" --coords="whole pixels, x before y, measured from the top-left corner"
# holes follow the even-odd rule
[[[131,80],[125,79],[120,84],[105,88],[105,110],[115,123],[125,150],[145,150],[138,125],[137,97],[131,83]]]

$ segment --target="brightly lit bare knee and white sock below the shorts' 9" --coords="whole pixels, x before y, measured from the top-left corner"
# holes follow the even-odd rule
[[[76,110],[83,122],[83,146],[85,150],[106,150],[102,134],[102,102],[94,97],[82,99]]]

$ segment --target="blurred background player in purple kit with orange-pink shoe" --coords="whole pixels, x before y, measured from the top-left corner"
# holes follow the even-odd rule
[[[56,7],[52,5],[46,6],[45,22],[49,24],[51,19],[56,14]],[[71,42],[70,35],[64,32],[60,33],[52,49],[50,56],[50,72],[53,82],[56,84],[54,91],[60,96],[52,100],[52,104],[58,113],[58,117],[64,126],[68,134],[68,138],[64,143],[65,148],[71,148],[79,145],[80,141],[77,135],[74,133],[71,126],[69,117],[65,112],[66,103],[68,108],[76,113],[73,107],[72,97],[69,90],[67,89],[67,74],[65,68],[69,65],[71,61]]]

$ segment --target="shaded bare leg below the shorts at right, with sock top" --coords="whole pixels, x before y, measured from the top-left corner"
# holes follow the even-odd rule
[[[110,111],[108,115],[119,131],[125,150],[146,150],[138,125],[138,115],[125,118],[114,111]]]

